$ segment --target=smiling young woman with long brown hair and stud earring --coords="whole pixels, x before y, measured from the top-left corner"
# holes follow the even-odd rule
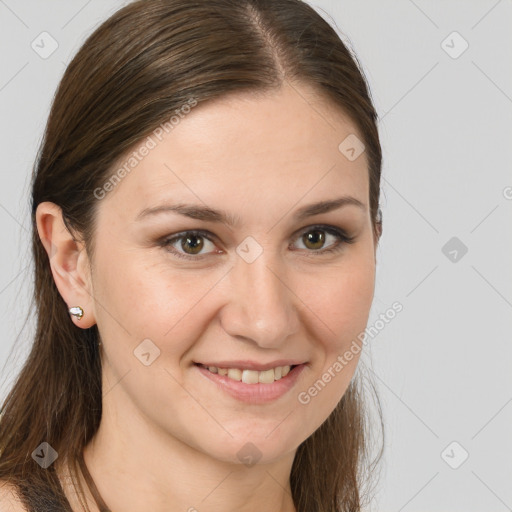
[[[33,176],[13,510],[361,510],[376,122],[300,0],[137,1],[88,38]]]

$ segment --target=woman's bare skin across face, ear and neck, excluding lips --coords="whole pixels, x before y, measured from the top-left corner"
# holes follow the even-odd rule
[[[360,354],[309,403],[299,393],[364,331],[374,294],[368,162],[338,149],[350,134],[358,131],[348,117],[306,86],[194,107],[100,200],[92,261],[60,209],[39,205],[56,285],[68,307],[85,311],[72,321],[97,324],[102,339],[103,415],[84,457],[113,511],[295,512],[297,447],[342,398]],[[295,218],[342,196],[363,206]],[[163,203],[224,210],[239,223],[176,212],[137,219]],[[323,245],[308,242],[318,224],[355,240],[322,231]],[[190,230],[210,237],[199,237],[199,254],[183,238],[158,243]],[[262,251],[251,263],[236,251],[248,236],[250,251]],[[148,366],[134,355],[145,339],[160,351]],[[306,366],[284,395],[251,404],[194,364],[235,359]],[[256,447],[256,464],[243,463],[244,446]]]

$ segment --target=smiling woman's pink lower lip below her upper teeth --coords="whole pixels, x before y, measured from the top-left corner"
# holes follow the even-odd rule
[[[195,365],[202,375],[217,384],[220,389],[233,398],[250,404],[264,404],[282,397],[293,388],[305,366],[305,364],[297,365],[286,377],[275,380],[272,384],[262,384],[261,382],[258,384],[246,384],[218,373],[212,373],[202,366]]]

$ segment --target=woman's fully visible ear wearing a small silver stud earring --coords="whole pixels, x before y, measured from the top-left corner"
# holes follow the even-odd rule
[[[75,240],[55,203],[45,201],[37,206],[36,224],[39,238],[48,253],[50,267],[68,309],[80,306],[81,319],[70,315],[76,326],[87,329],[96,323],[92,295],[90,262],[85,246]]]

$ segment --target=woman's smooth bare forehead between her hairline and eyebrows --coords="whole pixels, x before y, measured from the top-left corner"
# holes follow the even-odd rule
[[[107,202],[143,208],[179,194],[243,208],[249,199],[291,205],[306,193],[311,201],[345,193],[367,202],[366,155],[351,161],[340,151],[347,137],[362,136],[341,108],[307,86],[200,103],[157,134],[132,149],[151,146]]]

